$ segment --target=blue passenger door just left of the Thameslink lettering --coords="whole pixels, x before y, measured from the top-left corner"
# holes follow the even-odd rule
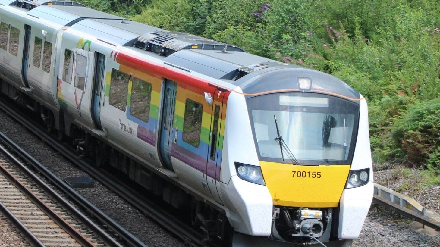
[[[106,63],[106,56],[99,52],[95,52],[95,71],[93,75],[93,94],[92,94],[92,120],[96,128],[102,129],[101,119],[99,114],[101,112],[101,98],[103,92],[104,82],[104,67]]]

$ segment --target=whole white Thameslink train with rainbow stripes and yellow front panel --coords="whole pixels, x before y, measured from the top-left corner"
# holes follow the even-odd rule
[[[73,1],[0,0],[0,84],[207,241],[350,246],[367,217],[367,102],[329,74]]]

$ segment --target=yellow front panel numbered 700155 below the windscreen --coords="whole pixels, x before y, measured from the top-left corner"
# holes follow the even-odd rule
[[[350,165],[298,166],[260,161],[274,205],[337,207]]]

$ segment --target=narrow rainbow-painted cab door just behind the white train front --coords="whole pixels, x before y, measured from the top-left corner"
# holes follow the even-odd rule
[[[212,115],[211,115],[211,131],[209,135],[209,148],[208,157],[206,160],[206,184],[208,185],[209,192],[213,196],[214,200],[221,203],[219,193],[216,188],[216,181],[220,179],[220,162],[221,162],[221,143],[223,138],[221,136],[221,117],[223,96],[221,91],[216,90],[216,101],[213,101]]]

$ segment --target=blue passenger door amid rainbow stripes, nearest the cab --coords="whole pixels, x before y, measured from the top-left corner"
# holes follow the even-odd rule
[[[165,79],[164,98],[162,100],[161,136],[159,151],[165,168],[174,171],[171,164],[171,145],[174,142],[173,116],[176,107],[177,84],[172,80]],[[177,129],[176,129],[177,131]]]

